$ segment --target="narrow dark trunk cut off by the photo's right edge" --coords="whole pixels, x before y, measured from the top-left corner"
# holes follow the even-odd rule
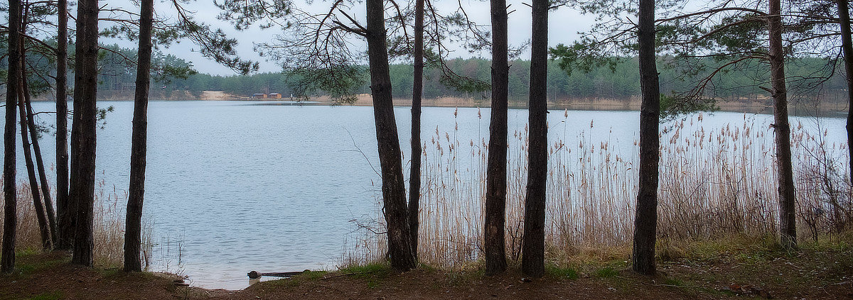
[[[850,154],[850,183],[853,184],[853,41],[850,40],[850,5],[838,0],[838,20],[841,23],[841,50],[844,53],[844,73],[847,75],[847,150]]]

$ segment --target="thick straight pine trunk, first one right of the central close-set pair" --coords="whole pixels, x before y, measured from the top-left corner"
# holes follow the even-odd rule
[[[660,84],[654,49],[654,0],[640,0],[640,188],[634,220],[634,272],[654,275],[658,227]]]

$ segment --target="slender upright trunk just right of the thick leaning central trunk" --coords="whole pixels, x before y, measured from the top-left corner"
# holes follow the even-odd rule
[[[415,0],[415,81],[412,84],[412,169],[409,173],[409,230],[412,253],[418,255],[418,211],[421,201],[421,98],[424,89],[424,0]]]

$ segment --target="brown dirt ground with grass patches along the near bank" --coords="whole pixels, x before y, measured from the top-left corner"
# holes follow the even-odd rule
[[[844,242],[793,253],[744,249],[670,258],[659,263],[655,278],[631,274],[624,260],[552,266],[535,280],[517,268],[488,277],[426,266],[397,274],[367,265],[241,291],[179,287],[171,274],[125,274],[67,262],[66,253],[18,257],[16,272],[0,275],[0,299],[853,299],[853,245]]]

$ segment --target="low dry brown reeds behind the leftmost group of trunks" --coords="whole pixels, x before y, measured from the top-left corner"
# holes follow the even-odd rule
[[[38,234],[35,209],[32,205],[32,194],[28,184],[19,182],[18,187],[18,227],[15,236],[15,247],[18,251],[43,251],[41,238]],[[2,199],[2,196],[0,196]],[[54,198],[55,199],[55,198]],[[93,226],[95,230],[95,263],[102,267],[121,266],[124,259],[125,247],[125,203],[127,192],[115,187],[107,187],[104,182],[98,182],[95,190],[95,211]],[[0,212],[3,207],[0,207]],[[0,223],[3,214],[0,213]],[[142,259],[151,259],[151,234],[153,228],[148,219],[142,223]],[[0,233],[2,238],[3,233]]]

